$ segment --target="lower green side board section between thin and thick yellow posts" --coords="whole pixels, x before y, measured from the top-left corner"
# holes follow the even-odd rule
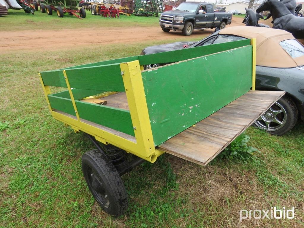
[[[106,105],[75,101],[80,118],[134,136],[130,112]]]

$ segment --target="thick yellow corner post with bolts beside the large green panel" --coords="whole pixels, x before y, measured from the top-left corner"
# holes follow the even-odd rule
[[[155,147],[139,61],[121,63],[120,69],[123,72],[123,83],[136,142],[142,148],[142,153],[145,153],[146,157],[150,157],[155,153]]]

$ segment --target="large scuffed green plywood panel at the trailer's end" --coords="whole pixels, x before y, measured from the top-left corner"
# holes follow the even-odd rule
[[[159,145],[250,90],[252,46],[143,71],[142,78]]]

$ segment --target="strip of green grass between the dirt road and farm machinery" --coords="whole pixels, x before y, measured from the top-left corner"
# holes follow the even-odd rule
[[[63,18],[59,18],[54,12],[53,15],[41,13],[40,8],[35,11],[34,15],[27,14],[24,10],[9,9],[9,15],[1,17],[1,31],[20,31],[27,29],[88,29],[100,27],[118,29],[126,26],[133,27],[150,27],[159,26],[158,17],[141,17],[141,16],[125,16],[120,18],[105,18],[102,16],[94,16],[91,11],[86,11],[85,19],[78,19],[75,16],[70,16],[67,13]]]

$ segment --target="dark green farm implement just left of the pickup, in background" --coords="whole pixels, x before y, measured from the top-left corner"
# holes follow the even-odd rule
[[[163,12],[161,0],[135,0],[134,1],[134,14],[135,16],[156,16]]]

